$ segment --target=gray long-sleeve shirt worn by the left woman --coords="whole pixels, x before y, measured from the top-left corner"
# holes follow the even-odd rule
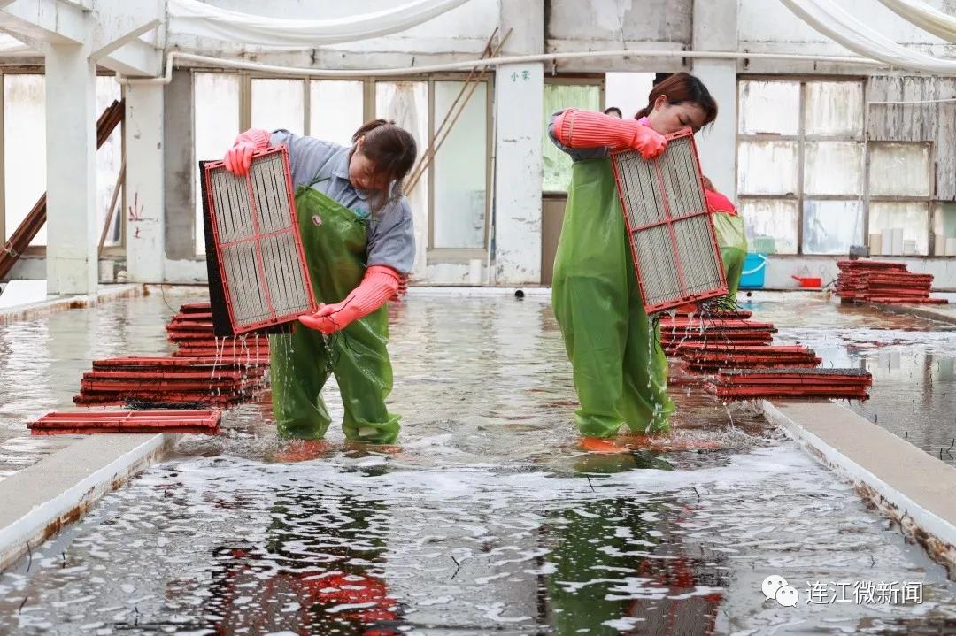
[[[289,164],[293,187],[308,185],[333,201],[366,218],[371,212],[369,195],[349,182],[348,146],[301,137],[287,130],[272,133],[272,145],[289,146]],[[400,274],[407,274],[415,263],[415,230],[412,209],[404,197],[388,201],[368,220],[368,254],[366,265],[387,265]]]

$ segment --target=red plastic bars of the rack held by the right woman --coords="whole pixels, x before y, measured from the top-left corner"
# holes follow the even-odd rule
[[[690,151],[693,154],[694,170],[697,173],[697,180],[701,185],[701,201],[706,201],[706,198],[704,197],[704,177],[703,177],[703,173],[701,172],[700,157],[697,154],[697,144],[694,143],[693,131],[691,131],[689,128],[686,128],[677,133],[672,133],[670,135],[664,136],[664,138],[666,138],[668,142],[671,141],[672,139],[680,139],[685,137],[690,138]],[[624,200],[624,196],[622,194],[622,188],[620,187],[620,173],[618,170],[618,162],[616,160],[618,155],[620,155],[621,153],[631,153],[631,152],[634,152],[634,151],[621,150],[621,151],[612,153],[611,167],[614,170],[614,180],[618,186],[618,199],[620,201],[620,209],[621,209],[621,212],[623,212],[624,214],[624,223],[626,223],[627,225],[627,243],[630,245],[630,248],[631,248],[631,258],[634,260],[634,268],[638,275],[638,285],[641,286],[641,300],[644,303],[644,310],[647,313],[656,313],[658,311],[664,311],[666,309],[671,309],[673,307],[680,307],[687,303],[697,303],[697,302],[706,300],[708,298],[716,298],[719,296],[726,295],[728,292],[728,287],[727,287],[727,279],[724,277],[723,263],[721,262],[721,257],[720,257],[720,244],[717,243],[717,233],[714,230],[714,224],[710,218],[710,212],[706,208],[706,202],[704,205],[704,209],[701,210],[700,212],[695,212],[694,214],[685,215],[681,217],[680,219],[674,219],[673,217],[671,217],[671,214],[670,214],[670,202],[665,199],[663,201],[664,213],[666,215],[666,219],[664,221],[658,222],[658,223],[648,223],[646,225],[642,225],[641,227],[632,226],[630,215],[627,214],[627,210],[628,210],[627,201]],[[663,192],[663,180],[661,179],[661,162],[660,161],[655,161],[654,170],[658,176],[658,183],[661,186],[661,191]],[[673,300],[664,301],[663,303],[658,303],[657,305],[648,305],[646,300],[644,300],[647,298],[647,292],[644,288],[643,276],[641,275],[641,260],[638,257],[637,246],[635,245],[635,242],[631,239],[631,237],[633,237],[636,232],[642,232],[651,227],[667,225],[667,234],[668,234],[668,237],[670,238],[671,247],[674,249],[674,253],[678,254],[680,252],[678,250],[677,236],[674,233],[674,222],[684,221],[685,219],[692,219],[693,217],[702,216],[702,215],[706,215],[707,229],[710,231],[710,242],[713,246],[714,254],[717,257],[717,262],[719,265],[721,265],[717,267],[718,273],[720,274],[721,286],[714,287],[713,289],[707,289],[706,291],[703,291],[697,294],[686,294],[681,298],[675,298]],[[681,288],[684,291],[684,293],[686,293],[687,284],[686,284],[686,279],[684,278],[684,267],[681,265],[680,259],[678,259],[677,263],[675,263],[674,265],[677,266],[677,277],[681,283]]]

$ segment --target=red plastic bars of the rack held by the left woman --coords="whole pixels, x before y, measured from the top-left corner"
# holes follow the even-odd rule
[[[289,211],[291,216],[290,221],[292,222],[291,227],[288,229],[275,230],[272,232],[265,232],[265,233],[260,231],[259,219],[258,219],[258,208],[255,205],[255,197],[252,196],[252,192],[253,192],[252,177],[251,177],[252,171],[250,169],[250,171],[246,173],[246,186],[247,186],[247,193],[249,194],[250,215],[252,218],[251,221],[252,221],[253,234],[251,237],[242,239],[240,241],[233,241],[231,243],[220,243],[219,228],[217,227],[217,217],[215,214],[216,207],[212,201],[211,174],[214,170],[216,170],[217,168],[222,168],[226,164],[224,161],[209,161],[204,164],[205,171],[203,174],[203,180],[206,181],[206,202],[208,204],[208,209],[209,209],[209,216],[211,221],[210,225],[212,226],[213,241],[216,244],[216,257],[217,257],[216,260],[219,265],[219,279],[223,283],[223,292],[226,296],[226,307],[228,308],[228,313],[229,313],[229,323],[232,325],[232,332],[236,335],[239,335],[241,333],[248,333],[250,331],[255,331],[257,329],[266,329],[274,325],[282,325],[288,322],[292,322],[298,316],[301,316],[306,313],[314,313],[316,310],[318,310],[318,304],[315,302],[315,293],[313,292],[313,288],[312,288],[312,277],[309,275],[309,265],[306,263],[305,250],[302,247],[302,236],[299,234],[298,218],[295,215],[295,196],[293,194],[292,170],[289,167],[289,149],[286,146],[286,144],[283,143],[278,146],[268,148],[266,150],[260,150],[255,152],[252,155],[252,160],[255,161],[255,159],[260,159],[260,158],[268,157],[269,155],[275,155],[275,154],[279,154],[282,157],[283,173],[286,180],[286,196],[289,198]],[[301,311],[296,314],[278,315],[275,311],[275,307],[272,307],[272,297],[270,296],[270,293],[269,293],[269,286],[266,284],[266,281],[265,281],[266,272],[263,268],[263,265],[265,264],[265,260],[263,259],[263,256],[262,256],[262,239],[271,237],[271,236],[277,236],[280,234],[288,234],[290,232],[295,237],[295,250],[298,255],[299,265],[302,266],[302,273],[305,276],[306,293],[308,294],[310,305],[307,310]],[[228,247],[230,245],[235,245],[235,244],[246,244],[246,243],[255,244],[255,252],[256,252],[256,256],[258,257],[257,263],[259,264],[258,269],[256,271],[256,276],[259,279],[259,285],[262,287],[263,295],[266,298],[266,304],[269,306],[269,312],[270,314],[272,314],[272,317],[267,318],[266,320],[259,321],[257,323],[250,323],[248,325],[240,326],[236,324],[236,320],[235,320],[235,311],[233,308],[233,301],[232,301],[233,295],[232,295],[232,290],[229,287],[230,281],[226,277],[226,268],[225,268],[225,265],[223,265],[223,256],[224,256],[225,247]]]

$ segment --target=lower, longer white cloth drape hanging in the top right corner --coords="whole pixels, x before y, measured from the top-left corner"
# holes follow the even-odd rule
[[[860,22],[833,0],[780,0],[787,9],[827,37],[854,53],[891,66],[933,74],[956,74],[956,60],[911,51]]]

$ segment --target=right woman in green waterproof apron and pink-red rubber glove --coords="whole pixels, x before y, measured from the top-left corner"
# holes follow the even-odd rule
[[[609,152],[663,152],[664,135],[695,132],[717,117],[717,104],[693,75],[670,75],[651,91],[634,119],[569,108],[548,132],[574,159],[561,239],[554,257],[552,300],[574,370],[575,413],[585,447],[610,450],[601,438],[669,429],[667,360],[660,332],[641,302]]]

